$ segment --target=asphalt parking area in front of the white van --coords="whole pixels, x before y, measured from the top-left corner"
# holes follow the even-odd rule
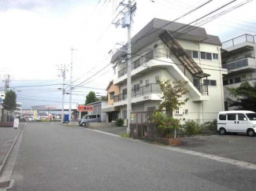
[[[181,138],[180,149],[256,163],[256,137],[227,134]]]

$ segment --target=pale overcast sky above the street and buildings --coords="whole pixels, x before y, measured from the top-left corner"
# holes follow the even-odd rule
[[[235,6],[246,0],[237,0]],[[0,75],[10,74],[16,87],[17,101],[23,108],[32,105],[61,105],[61,86],[57,64],[71,62],[73,52],[74,84],[89,79],[109,64],[109,50],[115,43],[127,41],[127,29],[115,28],[111,21],[122,7],[114,10],[121,1],[114,0],[1,0],[0,1]],[[206,0],[136,0],[137,10],[132,26],[135,35],[154,17],[174,20]],[[230,2],[213,0],[195,13],[178,22],[188,24],[213,9]],[[228,7],[224,8],[227,9]],[[255,1],[203,25],[210,35],[218,35],[221,42],[245,33],[256,33]],[[223,9],[223,10],[224,10]],[[117,18],[121,18],[117,17]],[[83,104],[90,90],[106,94],[105,89],[113,77],[111,66],[87,80],[77,88],[73,105]],[[66,82],[69,82],[69,72]],[[0,87],[4,86],[0,83]],[[27,86],[27,87],[19,87]],[[32,86],[32,87],[28,87]],[[1,91],[1,90],[0,90]],[[57,102],[56,102],[57,101]],[[65,96],[69,101],[69,96]],[[67,104],[66,104],[67,105]]]

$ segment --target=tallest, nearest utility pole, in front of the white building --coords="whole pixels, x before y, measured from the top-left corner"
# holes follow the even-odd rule
[[[124,2],[124,1],[123,1]],[[131,124],[131,112],[132,112],[132,79],[131,79],[131,70],[132,70],[132,38],[131,38],[131,29],[132,29],[132,14],[135,13],[136,3],[132,5],[131,0],[128,0],[128,4],[120,3],[120,6],[125,6],[127,12],[124,13],[124,18],[117,20],[116,27],[119,25],[122,28],[128,28],[128,41],[127,41],[127,50],[123,50],[127,53],[127,134],[130,134],[130,124]],[[123,13],[123,12],[122,12]]]

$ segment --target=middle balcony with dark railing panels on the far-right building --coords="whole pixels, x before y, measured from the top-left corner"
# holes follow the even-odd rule
[[[254,71],[255,67],[255,58],[247,57],[242,58],[236,61],[232,61],[227,64],[222,64],[222,68],[227,68],[228,72],[241,72],[241,71]]]

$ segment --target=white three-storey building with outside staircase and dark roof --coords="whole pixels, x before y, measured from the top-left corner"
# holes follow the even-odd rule
[[[192,30],[191,30],[192,29]],[[113,85],[120,94],[113,98],[119,116],[127,118],[126,47],[113,54]],[[200,123],[217,118],[224,110],[221,68],[221,41],[208,35],[204,28],[168,20],[151,20],[132,38],[132,112],[152,111],[161,102],[159,80],[187,81],[189,98],[186,105],[174,111],[176,119],[198,120]]]

